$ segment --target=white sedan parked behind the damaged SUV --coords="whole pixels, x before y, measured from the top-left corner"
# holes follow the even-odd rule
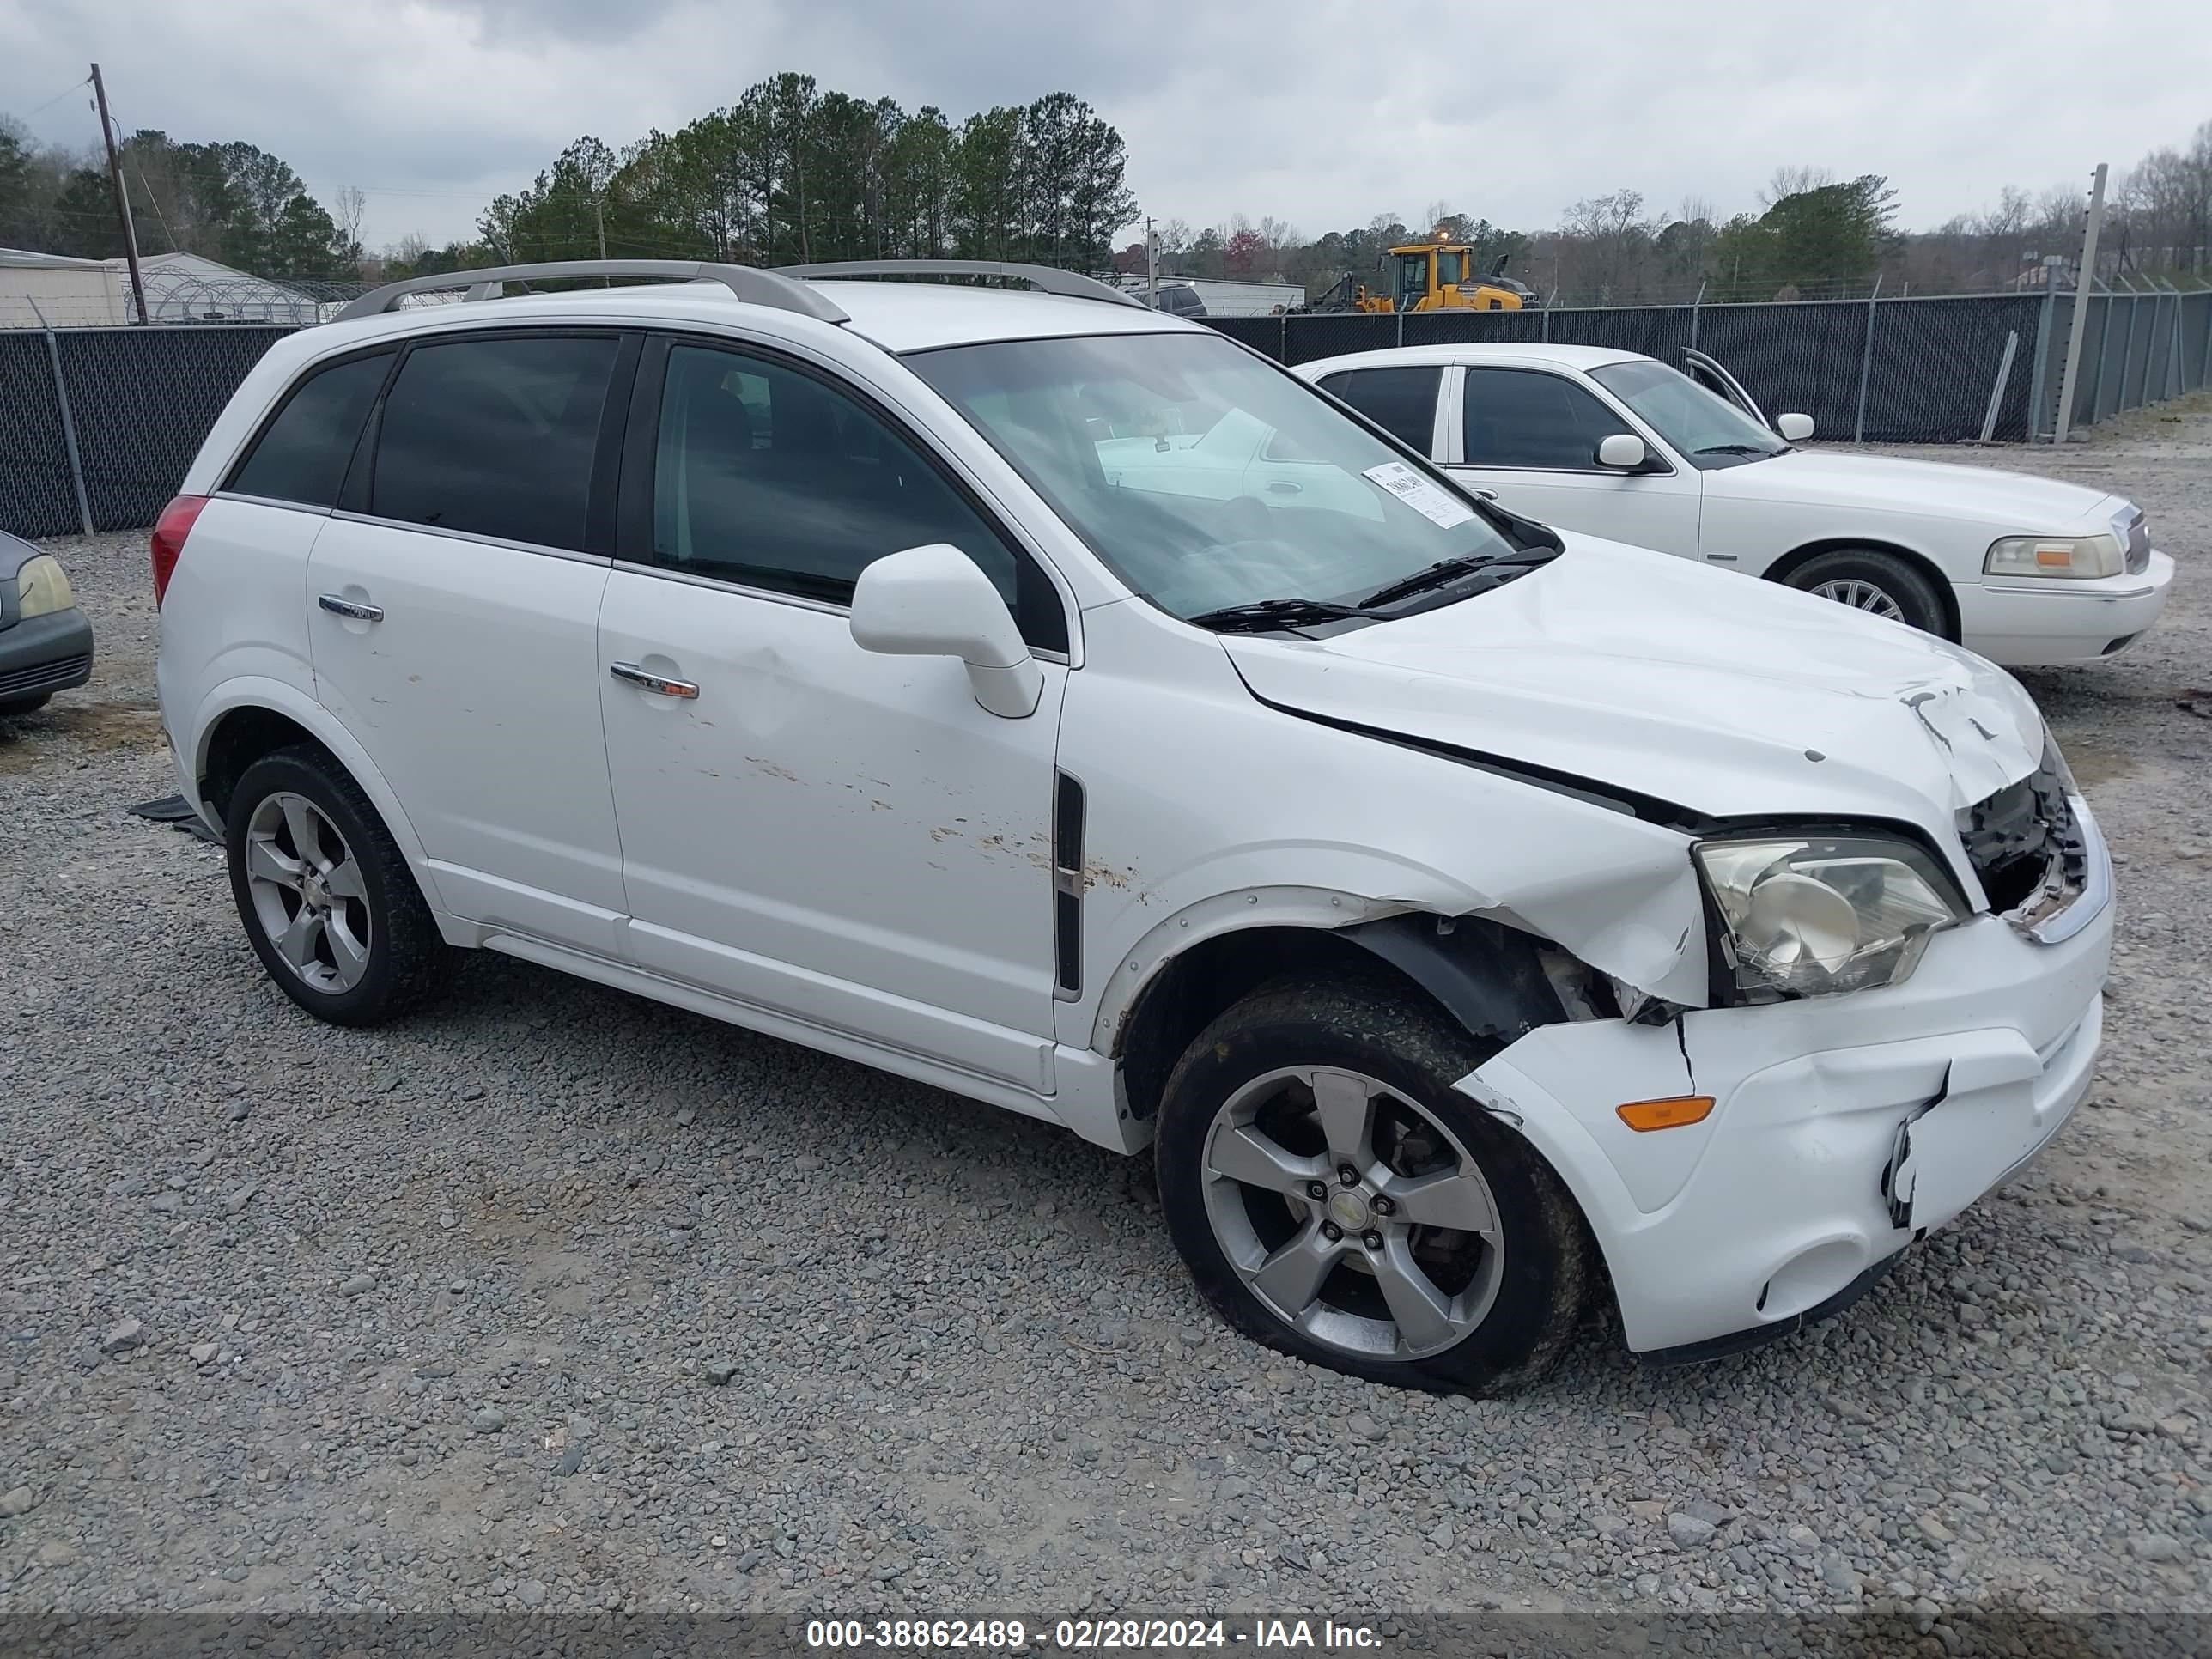
[[[1593,345],[1409,345],[1296,374],[1524,518],[1743,571],[2013,666],[2130,646],[2174,562],[2141,509],[2048,478],[1796,449],[1692,352],[1690,372]]]

